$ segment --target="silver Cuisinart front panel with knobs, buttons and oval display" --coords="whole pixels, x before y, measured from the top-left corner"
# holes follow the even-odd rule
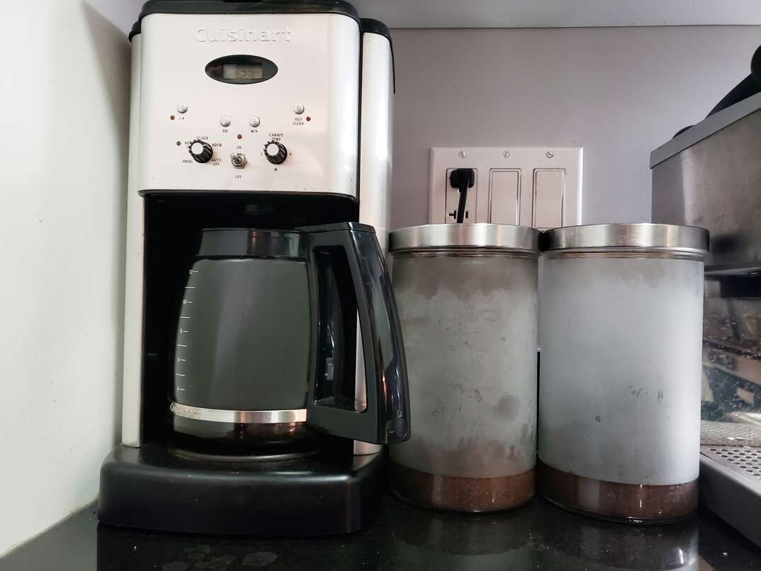
[[[140,193],[356,196],[355,20],[149,14],[138,39]]]

